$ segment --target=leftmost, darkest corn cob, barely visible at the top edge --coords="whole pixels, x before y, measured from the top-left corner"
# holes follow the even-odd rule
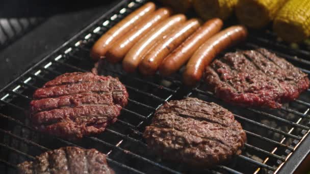
[[[186,13],[192,7],[192,0],[159,0],[177,13]]]

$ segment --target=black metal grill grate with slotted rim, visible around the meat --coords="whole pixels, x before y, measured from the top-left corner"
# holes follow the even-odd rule
[[[280,109],[253,109],[231,106],[207,91],[201,82],[187,88],[181,82],[181,73],[170,77],[158,74],[143,77],[127,74],[121,65],[105,63],[102,75],[118,77],[130,95],[119,120],[107,127],[104,133],[70,141],[34,130],[27,119],[29,102],[33,92],[45,82],[65,72],[90,71],[89,49],[93,43],[115,23],[146,1],[122,1],[113,9],[92,22],[84,30],[45,56],[0,90],[0,171],[15,173],[16,165],[33,160],[36,155],[65,146],[95,148],[108,155],[108,163],[116,173],[291,173],[309,153],[310,149],[310,90],[299,99]],[[285,57],[309,74],[310,61],[305,49],[290,49],[276,41],[271,32],[250,32],[248,40],[238,49],[265,47]],[[236,48],[228,51],[235,51]],[[292,55],[297,55],[292,56]],[[247,133],[248,141],[241,155],[212,169],[195,171],[190,167],[159,159],[147,149],[142,138],[154,111],[165,101],[197,97],[215,102],[235,114]]]

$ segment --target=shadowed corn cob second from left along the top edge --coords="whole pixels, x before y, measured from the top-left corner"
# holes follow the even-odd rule
[[[193,6],[198,15],[204,19],[226,19],[233,13],[238,0],[193,0]]]

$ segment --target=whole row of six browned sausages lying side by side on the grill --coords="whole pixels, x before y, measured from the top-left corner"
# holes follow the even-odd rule
[[[102,35],[90,56],[96,61],[122,61],[126,72],[139,69],[144,75],[158,70],[162,75],[170,75],[187,63],[184,82],[193,85],[216,54],[247,36],[241,25],[220,31],[223,22],[218,18],[201,23],[184,14],[173,14],[169,8],[156,9],[150,2]]]

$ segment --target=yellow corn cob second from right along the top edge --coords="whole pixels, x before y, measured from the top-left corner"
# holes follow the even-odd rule
[[[287,0],[239,0],[236,15],[239,21],[252,28],[266,26]]]

